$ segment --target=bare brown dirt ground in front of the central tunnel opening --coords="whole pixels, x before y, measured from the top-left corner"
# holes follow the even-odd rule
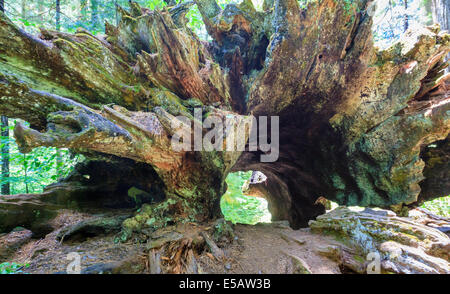
[[[309,229],[292,230],[278,224],[236,225],[235,241],[225,248],[224,264],[200,257],[208,273],[284,274],[292,273],[292,257],[305,262],[313,274],[339,274],[336,262],[317,253],[318,248],[337,244],[327,236],[312,234]],[[209,259],[209,260],[208,260]]]

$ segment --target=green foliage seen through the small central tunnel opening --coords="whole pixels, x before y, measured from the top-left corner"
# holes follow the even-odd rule
[[[246,196],[242,192],[242,187],[250,180],[251,175],[251,171],[236,172],[230,173],[226,178],[228,189],[220,200],[220,207],[225,220],[233,224],[254,225],[271,220],[267,200]]]

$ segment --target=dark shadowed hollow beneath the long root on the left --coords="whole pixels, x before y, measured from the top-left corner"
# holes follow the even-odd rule
[[[99,155],[100,156],[100,155]],[[139,209],[166,197],[154,169],[129,159],[89,158],[64,180],[46,187],[61,202],[78,208]]]

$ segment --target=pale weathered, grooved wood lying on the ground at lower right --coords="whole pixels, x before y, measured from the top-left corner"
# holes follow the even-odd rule
[[[445,222],[449,224],[448,219]],[[358,273],[366,272],[370,253],[380,254],[382,272],[450,273],[450,238],[392,211],[355,212],[339,207],[311,221],[310,227],[313,232],[331,233],[346,243],[349,248],[331,246],[318,251]]]

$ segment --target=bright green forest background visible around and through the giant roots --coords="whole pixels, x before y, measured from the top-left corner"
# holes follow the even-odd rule
[[[164,0],[134,1],[150,9],[162,9],[166,6]],[[177,0],[177,3],[181,1],[185,0]],[[299,0],[299,5],[306,9],[308,4],[315,1],[317,0]],[[345,1],[346,10],[353,11],[354,0],[342,1]],[[241,0],[218,0],[217,2],[222,8],[225,8],[227,4],[239,4]],[[263,0],[252,0],[252,2],[258,10],[261,10]],[[408,0],[407,10],[404,9],[404,0],[376,2],[377,10],[374,15],[373,31],[376,45],[381,48],[391,45],[401,37],[404,32],[405,16],[408,16],[410,28],[415,25],[430,24],[431,0]],[[5,0],[5,13],[25,30],[37,34],[41,27],[55,30],[55,3],[55,0]],[[73,33],[77,28],[83,27],[93,34],[104,33],[105,21],[111,24],[117,24],[119,21],[116,5],[127,9],[129,1],[61,0],[61,31]],[[196,5],[191,7],[186,17],[189,28],[200,39],[211,40]],[[13,123],[10,124],[11,130],[13,125]],[[12,194],[42,192],[43,187],[67,176],[73,166],[83,160],[82,156],[74,156],[67,149],[41,147],[35,148],[29,154],[22,154],[12,137],[12,132],[7,139],[10,145],[10,176],[0,177],[0,185],[10,183]],[[242,193],[242,186],[250,175],[251,172],[232,173],[226,179],[228,190],[221,199],[221,208],[225,218],[234,223],[254,224],[260,221],[270,221],[267,201]],[[444,197],[426,202],[422,207],[436,214],[449,216],[449,201],[449,197]]]

